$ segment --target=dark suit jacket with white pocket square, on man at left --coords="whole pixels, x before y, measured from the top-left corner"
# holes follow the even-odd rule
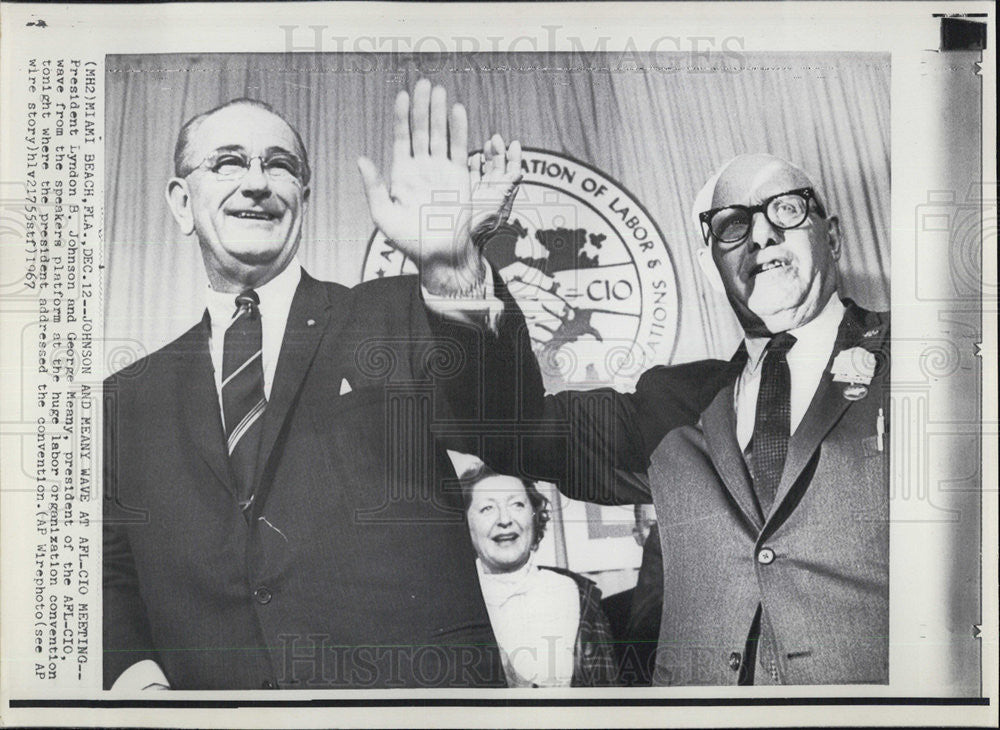
[[[177,689],[504,685],[432,435],[470,362],[449,326],[412,277],[303,274],[249,522],[207,317],[106,381],[106,685],[141,659]]]

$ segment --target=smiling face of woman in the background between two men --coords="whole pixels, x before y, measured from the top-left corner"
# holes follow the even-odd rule
[[[472,546],[487,573],[510,573],[528,562],[534,510],[520,479],[491,476],[472,488],[467,517]]]

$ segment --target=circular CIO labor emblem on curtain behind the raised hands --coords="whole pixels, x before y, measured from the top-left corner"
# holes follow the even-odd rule
[[[524,312],[546,390],[627,389],[674,349],[677,281],[663,234],[590,165],[525,148],[521,168],[510,219],[485,253]],[[428,216],[447,227],[447,201],[434,207]],[[413,262],[376,231],[363,279],[410,273]]]

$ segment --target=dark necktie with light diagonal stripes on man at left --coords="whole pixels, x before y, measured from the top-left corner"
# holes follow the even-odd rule
[[[222,416],[241,510],[253,502],[261,416],[267,406],[259,303],[253,289],[236,297],[236,313],[226,330],[222,354]]]

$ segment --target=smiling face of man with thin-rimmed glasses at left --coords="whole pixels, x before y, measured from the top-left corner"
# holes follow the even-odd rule
[[[224,179],[202,164],[220,150],[252,158],[242,178]],[[213,289],[265,284],[298,250],[309,188],[292,176],[267,174],[253,159],[275,153],[303,154],[287,122],[249,104],[213,112],[190,132],[186,174],[170,181],[167,200],[181,230],[197,235]]]

